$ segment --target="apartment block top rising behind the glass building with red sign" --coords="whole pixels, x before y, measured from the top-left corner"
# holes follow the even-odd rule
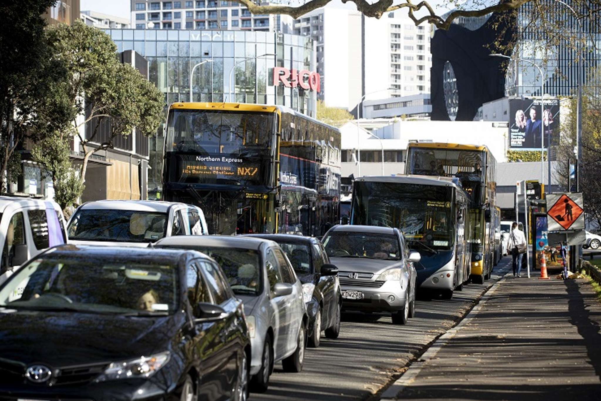
[[[267,5],[269,3],[264,3]],[[292,17],[251,14],[240,3],[221,0],[131,0],[132,28],[242,30],[291,33]]]

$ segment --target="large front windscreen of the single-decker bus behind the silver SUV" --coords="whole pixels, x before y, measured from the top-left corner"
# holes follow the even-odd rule
[[[395,227],[409,241],[432,249],[451,249],[453,217],[451,187],[355,181],[353,225]]]

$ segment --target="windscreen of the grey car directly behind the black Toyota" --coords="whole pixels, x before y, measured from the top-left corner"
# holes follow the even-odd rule
[[[259,253],[252,249],[210,247],[210,246],[175,246],[180,249],[192,249],[212,257],[221,266],[230,287],[236,295],[258,295],[261,288],[261,269]]]

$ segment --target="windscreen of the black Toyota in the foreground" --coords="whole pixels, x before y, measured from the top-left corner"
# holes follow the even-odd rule
[[[108,314],[177,309],[177,266],[95,258],[38,258],[11,276],[0,306]]]

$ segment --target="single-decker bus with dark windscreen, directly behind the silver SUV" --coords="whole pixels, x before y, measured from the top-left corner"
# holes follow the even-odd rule
[[[351,224],[400,229],[421,255],[416,285],[446,299],[469,279],[468,211],[468,194],[451,178],[362,177],[353,184]]]

